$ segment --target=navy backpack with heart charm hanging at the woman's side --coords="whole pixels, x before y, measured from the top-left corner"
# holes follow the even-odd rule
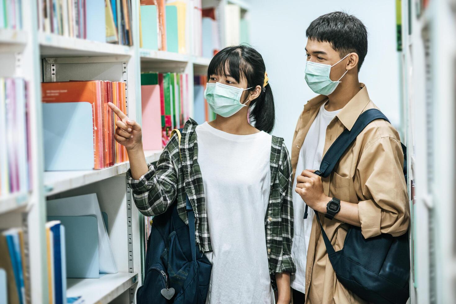
[[[206,303],[212,264],[196,247],[195,212],[188,197],[186,208],[188,226],[179,217],[177,202],[154,216],[144,283],[136,294],[138,304]]]

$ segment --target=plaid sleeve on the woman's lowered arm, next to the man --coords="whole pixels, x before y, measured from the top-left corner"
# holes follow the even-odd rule
[[[276,272],[295,273],[296,267],[291,258],[291,244],[293,242],[293,179],[290,163],[290,155],[282,143],[281,165],[279,168],[280,198],[281,198],[281,230],[282,230],[282,252],[277,263]]]

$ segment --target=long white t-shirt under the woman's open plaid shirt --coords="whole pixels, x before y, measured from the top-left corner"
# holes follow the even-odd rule
[[[264,231],[272,137],[228,134],[207,122],[196,133],[212,243],[206,303],[272,304]]]

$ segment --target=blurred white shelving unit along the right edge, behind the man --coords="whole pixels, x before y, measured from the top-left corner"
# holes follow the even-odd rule
[[[456,2],[402,0],[401,7],[411,303],[450,303],[456,296]]]

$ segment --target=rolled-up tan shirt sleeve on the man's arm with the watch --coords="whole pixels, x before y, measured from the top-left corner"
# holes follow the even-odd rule
[[[381,137],[361,154],[357,167],[358,215],[365,238],[407,232],[410,210],[403,173],[404,154],[400,142]]]

